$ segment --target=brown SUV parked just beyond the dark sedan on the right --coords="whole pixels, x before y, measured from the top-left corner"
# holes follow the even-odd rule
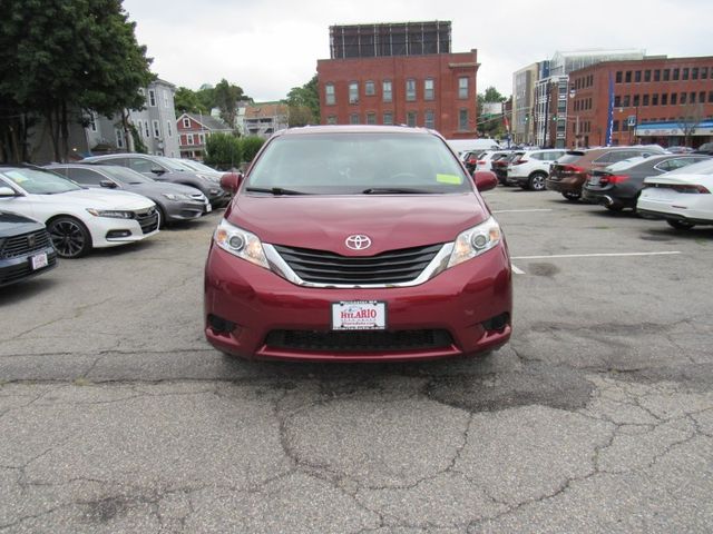
[[[547,189],[557,191],[567,200],[578,200],[582,188],[594,169],[603,169],[623,159],[665,154],[661,147],[608,147],[590,150],[568,150],[553,166],[547,177]]]

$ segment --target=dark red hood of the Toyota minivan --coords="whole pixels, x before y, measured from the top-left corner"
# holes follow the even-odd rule
[[[238,195],[225,218],[263,243],[373,256],[384,250],[452,241],[490,214],[475,194],[270,197]],[[344,240],[367,235],[353,251]]]

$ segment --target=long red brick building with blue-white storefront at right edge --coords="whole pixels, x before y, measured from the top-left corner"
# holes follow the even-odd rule
[[[614,89],[612,145],[699,147],[711,141],[713,57],[648,57],[597,63],[569,73],[567,147],[605,144],[609,77]]]

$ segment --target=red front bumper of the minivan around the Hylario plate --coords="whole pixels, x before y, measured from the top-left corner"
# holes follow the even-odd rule
[[[509,339],[511,291],[504,245],[419,286],[348,289],[296,286],[213,246],[205,268],[205,335],[218,350],[246,358],[390,362],[472,355]],[[353,346],[319,345],[350,336],[331,330],[331,306],[344,300],[385,303],[387,330],[356,330]],[[489,329],[496,317],[505,318],[505,324]],[[370,332],[379,333],[374,335],[379,344],[370,345]],[[383,346],[384,337],[423,332],[440,333],[447,342]],[[273,343],[284,333],[319,342],[314,346]]]

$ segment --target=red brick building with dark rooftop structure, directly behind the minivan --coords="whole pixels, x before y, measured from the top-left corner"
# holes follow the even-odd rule
[[[448,139],[477,125],[477,51],[450,52],[450,22],[330,27],[318,61],[322,123],[408,125]]]

